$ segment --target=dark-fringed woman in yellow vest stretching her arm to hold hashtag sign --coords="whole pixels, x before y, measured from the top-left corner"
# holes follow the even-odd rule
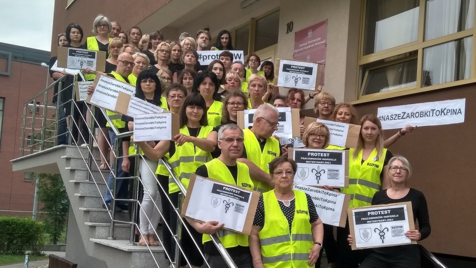
[[[160,141],[154,148],[148,146],[145,142],[137,143],[145,156],[153,161],[159,161],[169,153],[170,165],[185,188],[188,187],[190,174],[195,172],[200,165],[211,160],[210,152],[213,152],[217,146],[217,132],[213,130],[212,126],[207,125],[206,110],[206,102],[203,97],[192,93],[185,98],[183,105],[180,107],[180,133],[174,137],[173,141]],[[179,187],[175,181],[169,179],[169,197],[175,208],[179,203],[179,192]],[[177,231],[175,225],[177,214],[175,211],[171,211],[170,222],[171,229],[175,233]],[[192,236],[188,235],[186,231],[182,233],[182,249],[184,249],[190,265],[200,267],[203,265],[203,259],[193,246],[192,239],[198,245],[201,245],[202,236],[189,225],[188,229]],[[183,257],[181,263],[185,264]]]

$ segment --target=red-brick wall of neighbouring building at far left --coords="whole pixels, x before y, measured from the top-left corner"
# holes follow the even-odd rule
[[[0,59],[0,64],[4,61]],[[12,60],[11,74],[0,75],[0,97],[5,98],[0,144],[0,210],[33,208],[34,185],[24,180],[23,172],[11,171],[10,160],[20,157],[24,105],[45,89],[47,71],[39,64]]]

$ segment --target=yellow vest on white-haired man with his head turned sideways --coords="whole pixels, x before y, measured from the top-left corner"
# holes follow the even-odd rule
[[[269,174],[269,162],[279,157],[281,152],[279,141],[275,137],[269,137],[266,140],[263,152],[261,152],[261,147],[259,146],[256,135],[248,128],[243,129],[243,134],[247,159]],[[270,190],[267,183],[255,179],[251,180],[253,181],[255,191],[263,193]]]

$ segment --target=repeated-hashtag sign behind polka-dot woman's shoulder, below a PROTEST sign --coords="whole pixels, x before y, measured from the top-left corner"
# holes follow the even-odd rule
[[[346,226],[347,209],[351,202],[350,195],[297,184],[294,185],[293,189],[311,196],[314,207],[322,222],[333,226]]]

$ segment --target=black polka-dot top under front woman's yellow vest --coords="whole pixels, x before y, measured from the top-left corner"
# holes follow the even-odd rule
[[[312,202],[312,198],[310,195],[306,194],[307,199],[307,210],[309,211],[309,223],[313,223],[319,218],[317,214],[316,208],[314,207],[314,203]],[[283,212],[284,216],[288,220],[289,224],[289,232],[291,232],[291,227],[293,224],[294,213],[296,210],[296,197],[290,201],[289,207],[286,207],[283,201],[278,200],[279,207]],[[253,225],[256,226],[264,226],[264,199],[263,195],[259,197],[258,201],[258,208],[256,209],[256,214],[254,215]]]

